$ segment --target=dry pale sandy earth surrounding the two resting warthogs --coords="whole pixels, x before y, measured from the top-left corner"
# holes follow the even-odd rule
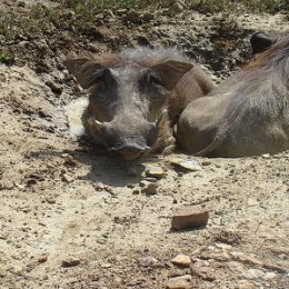
[[[1,9],[24,14],[29,2]],[[0,288],[289,288],[289,151],[113,159],[71,133],[67,104],[83,92],[61,64],[70,50],[119,50],[146,37],[179,43],[218,82],[248,61],[252,31],[279,32],[288,21],[185,11],[133,24],[117,12],[99,24],[100,38],[68,33],[62,49],[49,33],[1,43],[16,58],[0,66]],[[178,171],[172,158],[200,170]],[[163,176],[153,180],[157,193],[146,195],[140,186],[151,166]],[[208,209],[208,225],[172,231],[170,217],[185,205]],[[171,262],[179,253],[190,267]]]

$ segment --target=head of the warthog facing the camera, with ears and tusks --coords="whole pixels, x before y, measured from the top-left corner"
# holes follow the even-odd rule
[[[139,158],[155,148],[168,127],[170,91],[192,68],[191,63],[136,54],[64,61],[81,87],[90,91],[82,116],[86,131],[124,159]]]

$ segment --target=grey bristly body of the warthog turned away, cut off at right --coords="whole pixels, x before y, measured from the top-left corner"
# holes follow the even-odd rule
[[[245,157],[289,149],[289,34],[192,101],[177,123],[190,153]]]

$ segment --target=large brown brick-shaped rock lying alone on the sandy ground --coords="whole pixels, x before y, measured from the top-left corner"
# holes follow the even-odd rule
[[[179,208],[171,218],[171,227],[175,230],[198,228],[206,226],[209,219],[209,211],[197,206]]]

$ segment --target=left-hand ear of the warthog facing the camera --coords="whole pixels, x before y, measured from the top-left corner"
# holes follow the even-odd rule
[[[79,84],[88,89],[103,76],[108,69],[88,58],[67,59],[63,61],[69,72],[77,78]]]

